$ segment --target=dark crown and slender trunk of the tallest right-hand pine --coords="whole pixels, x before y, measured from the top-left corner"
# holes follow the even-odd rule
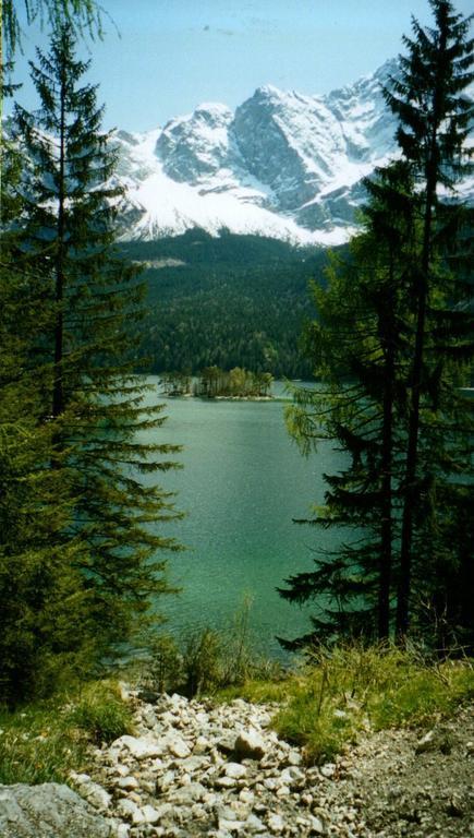
[[[446,228],[439,189],[453,193],[466,173],[466,144],[472,105],[462,92],[474,80],[474,40],[470,19],[455,14],[449,0],[430,0],[435,27],[413,20],[413,39],[405,37],[408,57],[386,98],[399,118],[397,132],[403,157],[412,167],[423,199],[423,234],[418,270],[413,276],[416,336],[411,373],[411,412],[404,478],[403,526],[397,633],[406,634],[413,564],[414,514],[420,501],[420,421],[427,319],[436,288],[435,265]],[[449,228],[449,225],[448,225]]]

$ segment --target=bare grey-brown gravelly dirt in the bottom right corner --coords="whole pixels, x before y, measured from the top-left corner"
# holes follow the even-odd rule
[[[425,735],[399,730],[368,737],[335,766],[319,802],[329,810],[347,806],[339,835],[474,836],[474,706]]]

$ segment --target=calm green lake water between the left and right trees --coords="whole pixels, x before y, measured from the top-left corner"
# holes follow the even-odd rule
[[[159,393],[158,378],[148,380]],[[282,384],[274,392],[282,395]],[[276,588],[312,570],[315,547],[333,541],[332,534],[293,518],[323,502],[321,476],[335,470],[341,455],[323,442],[304,458],[285,430],[281,402],[159,400],[168,419],[154,440],[183,445],[177,457],[183,469],[165,472],[161,484],[178,493],[185,517],[166,531],[187,548],[169,558],[170,578],[182,592],[159,601],[167,628],[180,634],[229,626],[248,597],[254,637],[267,655],[281,656],[276,635],[309,631],[314,608],[289,604]]]

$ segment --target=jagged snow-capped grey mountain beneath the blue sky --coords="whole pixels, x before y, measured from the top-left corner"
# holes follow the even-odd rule
[[[397,154],[373,75],[326,96],[259,87],[236,108],[204,104],[145,134],[117,133],[124,239],[202,227],[336,244],[354,230],[362,180]],[[466,184],[474,195],[474,182]]]

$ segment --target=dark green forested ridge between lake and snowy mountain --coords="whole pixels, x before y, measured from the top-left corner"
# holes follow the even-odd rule
[[[153,372],[216,364],[311,374],[299,336],[313,314],[308,282],[323,282],[327,251],[198,229],[121,249],[145,267],[149,311],[141,330]]]

